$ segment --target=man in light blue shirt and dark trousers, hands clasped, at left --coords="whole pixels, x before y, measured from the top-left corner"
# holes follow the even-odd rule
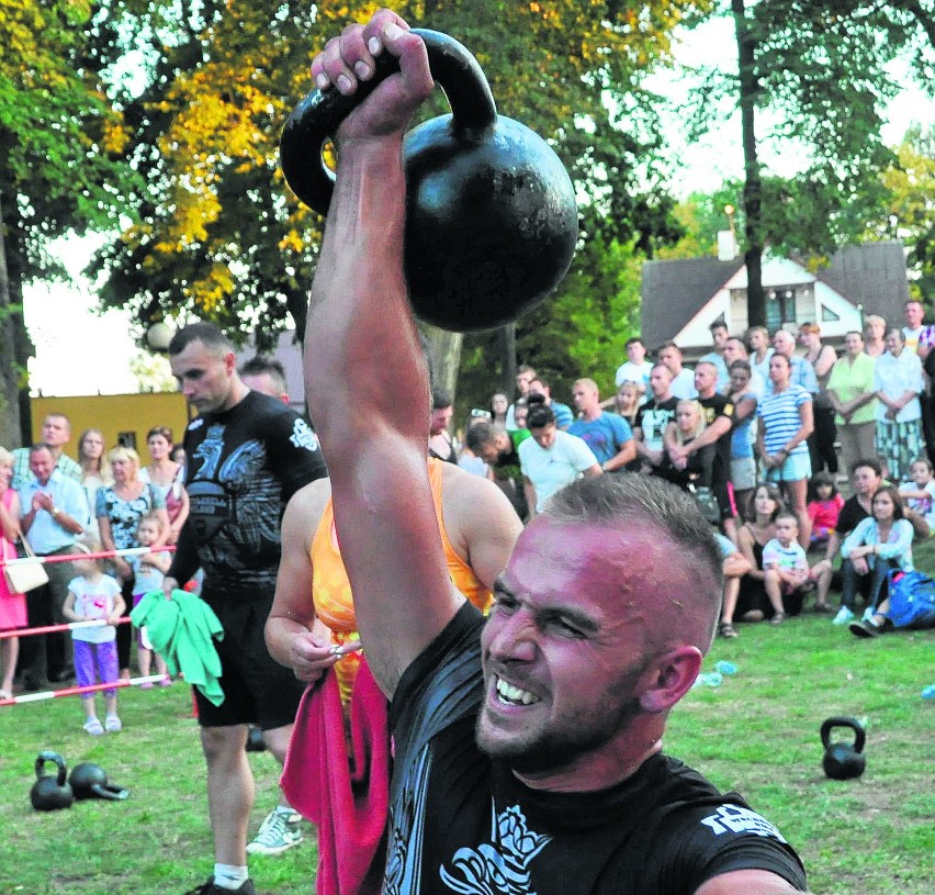
[[[76,468],[79,469],[77,463]],[[53,449],[45,444],[30,448],[30,478],[19,489],[20,530],[37,556],[74,553],[79,535],[90,523],[88,500],[78,482],[56,466]],[[68,596],[68,582],[75,578],[71,562],[48,562],[48,583],[26,594],[30,627],[60,625]],[[23,686],[40,690],[46,675],[54,683],[74,674],[64,634],[31,635],[21,645],[20,668]]]

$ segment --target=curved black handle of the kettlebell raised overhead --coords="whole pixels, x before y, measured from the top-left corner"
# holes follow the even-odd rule
[[[423,38],[435,81],[451,105],[452,126],[460,139],[480,139],[497,122],[497,107],[480,63],[453,37],[440,31],[413,29]],[[313,90],[285,122],[280,138],[280,164],[292,191],[311,209],[326,214],[335,191],[335,175],[322,157],[325,142],[341,122],[380,85],[399,70],[399,60],[384,51],[376,71],[350,97],[340,91]]]

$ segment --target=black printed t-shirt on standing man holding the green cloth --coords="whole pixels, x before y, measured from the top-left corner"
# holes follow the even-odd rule
[[[312,427],[281,401],[249,392],[185,429],[189,517],[169,573],[204,569],[206,598],[269,598],[275,590],[289,499],[327,476]]]

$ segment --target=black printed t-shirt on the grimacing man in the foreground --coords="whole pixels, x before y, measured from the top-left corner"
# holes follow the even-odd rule
[[[745,869],[804,891],[779,831],[675,759],[656,754],[599,793],[545,793],[481,753],[482,624],[465,605],[396,690],[384,892],[690,895]]]

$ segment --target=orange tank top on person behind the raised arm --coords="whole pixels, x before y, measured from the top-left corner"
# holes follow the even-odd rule
[[[444,463],[441,460],[433,457],[428,458],[429,485],[435,503],[435,515],[438,519],[438,530],[441,534],[441,542],[444,547],[448,573],[451,575],[454,586],[471,603],[481,612],[487,612],[493,602],[493,594],[474,574],[474,570],[458,555],[448,539],[441,508],[443,468]],[[335,528],[335,510],[330,497],[325,504],[322,519],[315,529],[315,537],[312,539],[308,556],[312,559],[312,598],[315,602],[315,614],[331,629],[331,638],[336,644],[358,639],[353,596],[341,560],[338,534]],[[341,690],[341,700],[345,703],[350,698],[358,662],[358,653],[350,653],[335,665]]]

